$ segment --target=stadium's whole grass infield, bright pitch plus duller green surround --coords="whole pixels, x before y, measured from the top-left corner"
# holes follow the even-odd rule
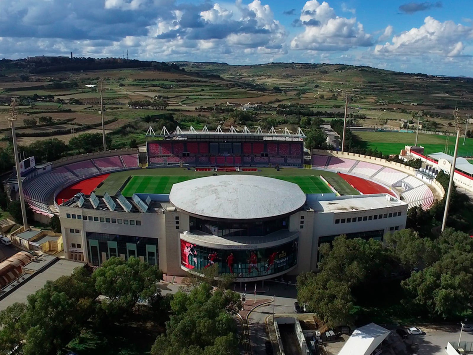
[[[168,194],[173,184],[191,178],[211,176],[213,171],[195,172],[186,168],[159,168],[119,171],[110,174],[104,183],[95,190],[97,195],[108,192],[115,195],[117,191],[131,177],[122,194],[131,196],[133,193]],[[220,174],[243,174],[242,172],[219,172]],[[257,172],[245,172],[246,175],[260,175],[279,178],[298,184],[307,194],[328,193],[330,188],[319,178],[323,176],[342,195],[359,195],[359,192],[350,186],[342,177],[330,171],[313,169],[285,168],[277,171],[273,168],[261,168]]]

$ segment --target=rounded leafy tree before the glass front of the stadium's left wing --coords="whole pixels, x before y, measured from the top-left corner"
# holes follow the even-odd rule
[[[151,266],[137,257],[127,261],[111,257],[92,277],[96,290],[108,298],[101,308],[109,316],[121,316],[130,312],[139,299],[149,300],[159,293],[156,283],[163,273],[157,265]]]

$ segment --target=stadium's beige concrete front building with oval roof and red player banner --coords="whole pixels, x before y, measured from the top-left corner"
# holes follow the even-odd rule
[[[99,266],[135,256],[168,275],[213,264],[237,281],[315,270],[317,250],[340,234],[376,238],[405,228],[391,195],[306,195],[296,184],[251,175],[200,177],[169,195],[82,196],[59,206],[68,258]]]

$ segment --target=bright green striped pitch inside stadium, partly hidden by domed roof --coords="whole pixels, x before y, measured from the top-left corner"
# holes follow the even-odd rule
[[[269,176],[297,184],[306,194],[325,194],[332,190],[318,176]],[[138,194],[169,194],[171,187],[195,176],[132,176],[122,190],[124,196]]]

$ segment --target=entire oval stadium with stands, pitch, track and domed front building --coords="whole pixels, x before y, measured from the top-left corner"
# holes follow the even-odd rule
[[[26,202],[40,222],[59,215],[68,258],[135,256],[176,276],[217,264],[239,281],[295,275],[316,269],[321,243],[382,240],[405,228],[408,208],[445,193],[403,164],[305,152],[300,129],[150,128],[147,139],[139,151],[25,163]]]

